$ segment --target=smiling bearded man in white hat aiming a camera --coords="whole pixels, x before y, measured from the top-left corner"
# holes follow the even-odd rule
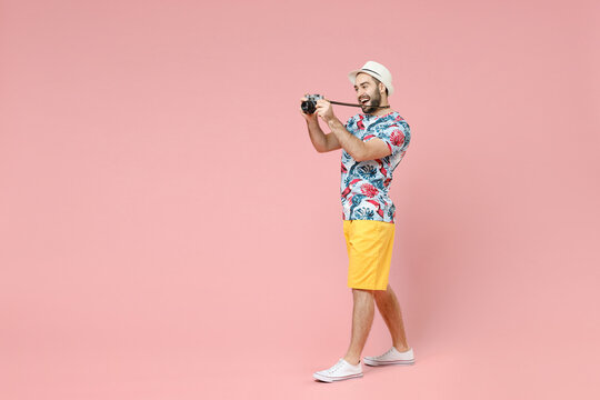
[[[314,113],[302,113],[310,140],[319,152],[342,149],[341,202],[348,248],[348,287],[352,289],[352,334],[346,356],[313,378],[333,382],[362,377],[362,349],[371,329],[374,304],[391,334],[392,347],[379,357],[366,357],[368,366],[413,363],[407,343],[398,299],[388,284],[394,236],[394,206],[388,197],[392,172],[410,142],[410,128],[390,109],[392,77],[382,64],[368,61],[349,73],[362,113],[342,124],[331,103],[318,100]],[[302,99],[304,101],[306,98]],[[327,123],[324,133],[318,117]]]

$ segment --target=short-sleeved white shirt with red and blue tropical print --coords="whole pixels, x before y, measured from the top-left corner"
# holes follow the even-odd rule
[[[376,160],[357,162],[346,150],[341,156],[341,202],[344,220],[394,222],[396,207],[388,196],[392,172],[410,142],[410,127],[396,111],[384,116],[359,113],[350,118],[346,129],[369,141],[379,138],[391,154]]]

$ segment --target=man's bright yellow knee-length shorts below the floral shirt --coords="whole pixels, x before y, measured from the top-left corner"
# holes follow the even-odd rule
[[[348,287],[386,290],[390,276],[396,226],[391,222],[344,220]]]

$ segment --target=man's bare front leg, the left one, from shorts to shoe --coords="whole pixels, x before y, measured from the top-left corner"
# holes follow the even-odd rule
[[[352,337],[344,360],[356,366],[369,337],[374,316],[373,290],[352,289]]]

